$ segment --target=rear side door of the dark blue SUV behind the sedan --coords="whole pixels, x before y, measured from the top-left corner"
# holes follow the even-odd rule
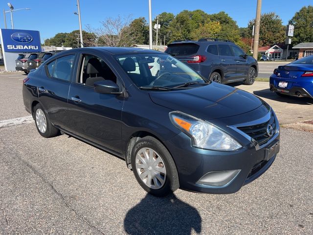
[[[234,60],[234,53],[228,44],[218,44],[219,58],[224,73],[224,82],[237,78],[237,65]]]

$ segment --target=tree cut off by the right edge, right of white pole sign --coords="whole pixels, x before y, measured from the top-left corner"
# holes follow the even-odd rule
[[[304,6],[296,12],[289,24],[294,25],[292,44],[313,42],[313,6]]]

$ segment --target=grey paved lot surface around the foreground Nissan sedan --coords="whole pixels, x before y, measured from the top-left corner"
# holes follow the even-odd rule
[[[0,74],[0,121],[29,116],[24,77]],[[265,82],[235,86],[268,101],[282,123],[313,117],[309,99],[286,102]],[[239,192],[155,198],[124,160],[67,135],[44,139],[33,122],[2,125],[0,234],[310,234],[312,145],[313,133],[282,128],[274,164]]]

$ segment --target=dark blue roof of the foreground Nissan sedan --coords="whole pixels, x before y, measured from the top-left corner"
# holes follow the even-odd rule
[[[163,53],[157,50],[151,50],[151,49],[143,49],[138,47],[83,47],[83,48],[74,48],[70,50],[65,50],[65,52],[68,51],[107,51],[111,54],[129,54],[129,53]],[[63,53],[63,52],[61,52]]]

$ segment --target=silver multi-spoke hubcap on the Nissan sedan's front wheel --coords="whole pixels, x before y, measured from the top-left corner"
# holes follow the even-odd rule
[[[165,164],[151,148],[141,148],[137,152],[136,170],[141,181],[149,188],[158,189],[165,184]]]

